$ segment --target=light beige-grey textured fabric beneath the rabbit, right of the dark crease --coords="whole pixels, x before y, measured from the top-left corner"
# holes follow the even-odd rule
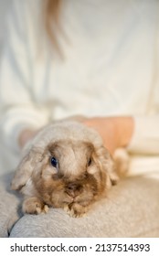
[[[159,181],[126,178],[86,217],[70,218],[56,208],[50,208],[48,214],[26,214],[16,221],[10,237],[159,237],[158,197]]]

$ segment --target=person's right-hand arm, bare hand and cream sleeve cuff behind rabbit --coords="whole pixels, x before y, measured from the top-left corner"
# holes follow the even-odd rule
[[[97,130],[111,154],[126,147],[133,154],[159,155],[159,115],[95,117],[83,121]]]

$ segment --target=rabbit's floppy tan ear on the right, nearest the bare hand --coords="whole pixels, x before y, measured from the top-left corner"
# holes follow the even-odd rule
[[[119,176],[117,175],[115,163],[112,160],[109,151],[104,146],[101,146],[96,150],[96,154],[101,170],[107,174],[107,187],[117,184]]]

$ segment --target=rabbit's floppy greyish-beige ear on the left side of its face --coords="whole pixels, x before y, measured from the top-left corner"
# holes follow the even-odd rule
[[[33,170],[41,159],[41,154],[36,149],[31,149],[27,155],[25,155],[16,168],[15,176],[11,182],[11,188],[13,190],[21,190],[26,186],[26,182],[33,173]]]

